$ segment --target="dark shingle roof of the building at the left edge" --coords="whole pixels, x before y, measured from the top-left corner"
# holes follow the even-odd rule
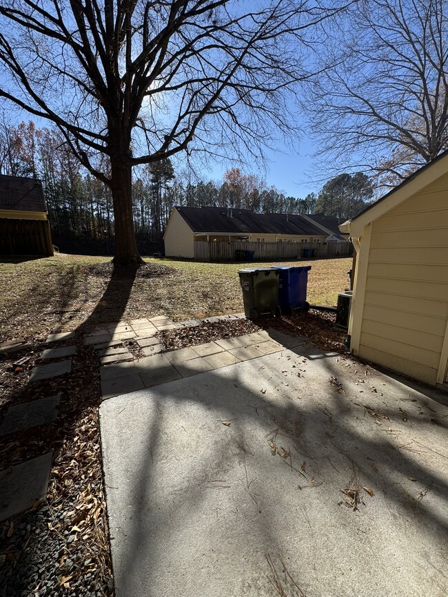
[[[41,181],[1,174],[0,209],[47,211]]]

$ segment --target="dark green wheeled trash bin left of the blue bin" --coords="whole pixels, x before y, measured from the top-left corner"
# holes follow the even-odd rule
[[[238,270],[238,274],[245,316],[256,320],[261,315],[275,315],[278,305],[278,269],[247,267]]]

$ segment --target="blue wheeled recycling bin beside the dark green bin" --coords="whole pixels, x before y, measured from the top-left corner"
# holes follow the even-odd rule
[[[291,315],[297,310],[308,311],[307,284],[311,266],[277,265],[273,269],[280,270],[278,279],[278,308],[280,312]]]

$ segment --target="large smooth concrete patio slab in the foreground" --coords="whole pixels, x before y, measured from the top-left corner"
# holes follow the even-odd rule
[[[312,356],[103,402],[117,597],[445,597],[446,408]]]

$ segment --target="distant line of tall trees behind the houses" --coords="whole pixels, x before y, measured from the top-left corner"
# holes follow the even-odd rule
[[[107,172],[108,163],[104,160],[97,167]],[[110,189],[83,169],[57,129],[38,129],[31,121],[16,126],[3,120],[0,173],[42,181],[54,236],[114,238]],[[168,159],[134,169],[132,188],[136,238],[150,242],[161,240],[176,205],[230,207],[256,213],[323,213],[344,220],[356,215],[372,197],[371,182],[365,174],[340,174],[318,194],[295,198],[238,168],[228,170],[220,182],[176,175]]]

